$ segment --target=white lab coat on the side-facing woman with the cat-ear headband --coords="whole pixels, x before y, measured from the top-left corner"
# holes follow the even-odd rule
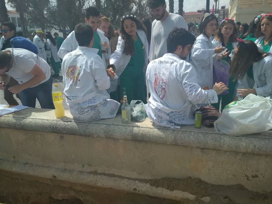
[[[199,86],[202,89],[212,89],[213,85],[213,57],[214,45],[213,38],[206,35],[199,35],[193,45],[192,59],[190,63],[196,69],[196,76]]]

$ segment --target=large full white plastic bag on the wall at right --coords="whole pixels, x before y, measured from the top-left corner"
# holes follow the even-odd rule
[[[249,94],[227,105],[214,122],[217,132],[232,136],[264,132],[272,128],[272,99]]]

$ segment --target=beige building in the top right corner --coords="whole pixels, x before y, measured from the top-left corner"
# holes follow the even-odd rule
[[[249,24],[257,15],[261,13],[271,13],[272,0],[230,0],[228,16],[235,21]]]

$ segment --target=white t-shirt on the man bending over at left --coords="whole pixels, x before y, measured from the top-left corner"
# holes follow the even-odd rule
[[[45,79],[35,86],[46,82],[50,78],[50,66],[44,59],[37,57],[35,53],[21,48],[8,48],[6,50],[11,51],[12,58],[12,67],[6,74],[13,77],[19,84],[26,83],[34,77],[34,75],[29,72],[33,69],[35,64],[37,64],[45,74]]]

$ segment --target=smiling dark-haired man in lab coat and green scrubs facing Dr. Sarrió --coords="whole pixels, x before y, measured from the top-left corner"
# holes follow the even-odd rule
[[[94,31],[94,44],[92,48],[98,49],[98,55],[102,58],[103,63],[106,67],[106,60],[110,58],[111,50],[109,48],[108,38],[105,37],[104,32],[101,31],[99,27],[100,22],[100,12],[96,7],[89,7],[85,11],[85,22],[92,26]],[[75,32],[71,32],[68,37],[63,41],[58,56],[63,59],[63,57],[73,51],[78,47],[78,42],[76,41]]]

